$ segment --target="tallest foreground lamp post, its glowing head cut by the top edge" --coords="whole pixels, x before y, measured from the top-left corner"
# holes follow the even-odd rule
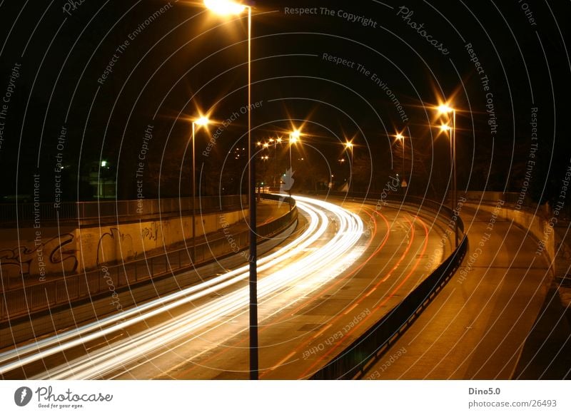
[[[250,379],[258,380],[258,252],[256,246],[256,148],[252,142],[252,8],[232,0],[204,0],[204,4],[216,14],[228,16],[241,14],[248,9],[248,198],[250,205]]]

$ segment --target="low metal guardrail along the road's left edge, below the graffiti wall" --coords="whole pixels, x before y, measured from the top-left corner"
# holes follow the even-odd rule
[[[283,199],[274,195],[261,195],[261,197],[268,200]],[[285,203],[288,203],[288,199],[285,198]],[[295,201],[292,206],[295,207]],[[258,240],[277,235],[295,222],[297,217],[298,210],[293,208],[276,220],[258,226]],[[248,240],[249,231],[246,230],[233,235],[223,235],[216,240],[196,245],[194,260],[191,257],[192,247],[186,247],[141,260],[123,262],[118,265],[102,265],[98,270],[9,289],[0,293],[0,322],[7,322],[10,319],[64,304],[69,304],[71,307],[72,302],[105,293],[111,295],[116,290],[139,282],[182,272],[214,258],[238,253],[248,246]]]

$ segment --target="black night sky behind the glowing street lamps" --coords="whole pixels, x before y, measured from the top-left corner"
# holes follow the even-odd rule
[[[39,174],[51,200],[59,160],[66,200],[91,195],[81,182],[101,160],[119,198],[136,197],[138,168],[146,197],[186,194],[188,120],[199,110],[237,115],[216,143],[221,124],[196,138],[205,191],[227,191],[245,166],[227,155],[246,146],[246,19],[213,16],[201,1],[72,3],[0,2],[2,195],[32,193]],[[450,156],[433,106],[446,98],[458,108],[460,188],[519,193],[527,173],[530,196],[550,198],[571,163],[570,15],[568,1],[257,1],[253,138],[302,128],[300,183],[346,177],[340,143],[353,138],[361,190],[404,167],[412,191],[438,198]],[[287,148],[270,155],[279,170]]]

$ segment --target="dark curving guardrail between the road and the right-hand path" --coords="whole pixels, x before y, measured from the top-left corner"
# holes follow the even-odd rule
[[[402,199],[402,198],[401,198]],[[409,198],[407,198],[410,200]],[[449,215],[452,211],[438,203],[423,200],[423,205],[439,205]],[[464,224],[457,218],[458,227],[464,232]],[[468,237],[464,235],[458,247],[436,270],[433,271],[418,287],[370,327],[358,339],[335,356],[322,369],[315,372],[310,379],[355,379],[362,375],[371,364],[376,362],[384,352],[410,327],[415,319],[430,304],[432,299],[442,290],[462,263],[468,250]]]

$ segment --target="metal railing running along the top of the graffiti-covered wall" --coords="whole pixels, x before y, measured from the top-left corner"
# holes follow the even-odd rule
[[[138,217],[192,212],[192,198],[164,198],[140,200],[105,200],[95,202],[0,203],[0,222],[30,222],[36,217],[44,220],[87,220],[101,217]],[[196,212],[244,209],[247,195],[201,197],[195,199]]]

